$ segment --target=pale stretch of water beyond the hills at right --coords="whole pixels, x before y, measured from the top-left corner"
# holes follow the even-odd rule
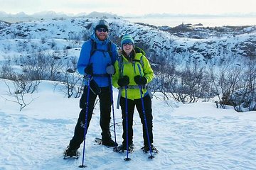
[[[203,27],[215,26],[256,26],[256,16],[252,17],[191,17],[174,16],[169,18],[125,18],[134,23],[148,23],[154,26],[175,27],[181,23],[203,24]]]

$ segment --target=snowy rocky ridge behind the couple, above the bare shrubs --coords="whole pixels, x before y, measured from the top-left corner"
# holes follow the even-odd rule
[[[84,40],[93,33],[96,18],[62,18],[23,23],[0,23],[0,60],[3,56],[28,55],[36,49],[68,50],[79,55]],[[256,59],[256,26],[201,28],[178,26],[163,28],[107,18],[110,38],[119,45],[129,34],[146,51],[151,62],[186,67],[194,62],[208,66],[242,65]],[[25,52],[25,53],[24,53]]]

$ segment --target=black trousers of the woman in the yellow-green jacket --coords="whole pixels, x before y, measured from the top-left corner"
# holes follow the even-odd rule
[[[145,115],[146,115],[146,124],[149,132],[149,142],[153,143],[153,116],[152,116],[152,108],[151,108],[151,98],[149,95],[144,96],[144,109],[145,109]],[[120,106],[122,109],[122,126],[123,126],[123,145],[126,145],[127,141],[127,135],[126,135],[126,109],[125,109],[125,98],[121,97],[120,98]],[[136,106],[137,111],[139,112],[139,118],[141,119],[142,126],[143,126],[143,140],[144,140],[144,145],[149,145],[147,135],[146,135],[146,125],[144,121],[144,113],[142,111],[142,99],[135,99],[135,100],[129,100],[127,99],[127,113],[128,113],[128,144],[132,144],[132,139],[133,139],[133,129],[132,129],[132,124],[133,124],[133,117],[134,117],[134,106]]]

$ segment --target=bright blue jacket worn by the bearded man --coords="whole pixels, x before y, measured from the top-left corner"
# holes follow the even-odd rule
[[[95,33],[90,36],[92,40],[97,43],[97,50],[90,56],[90,52],[92,50],[92,40],[87,40],[83,45],[80,52],[80,57],[78,60],[78,72],[80,74],[85,74],[85,68],[88,64],[92,63],[92,72],[93,74],[100,74],[105,75],[107,74],[106,68],[110,64],[114,64],[117,60],[118,53],[117,53],[117,45],[112,43],[111,50],[112,50],[112,59],[110,58],[110,54],[107,52],[107,42],[110,42],[110,38],[107,38],[104,41],[100,41],[96,38]],[[98,51],[104,50],[105,52]],[[108,76],[93,76],[92,78],[96,81],[98,86],[105,87],[110,86],[110,77]],[[85,81],[85,85],[87,81]]]

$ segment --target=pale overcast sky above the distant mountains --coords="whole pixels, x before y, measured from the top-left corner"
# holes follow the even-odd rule
[[[33,14],[41,11],[63,13],[109,12],[223,14],[256,13],[256,0],[0,0],[0,11]]]

